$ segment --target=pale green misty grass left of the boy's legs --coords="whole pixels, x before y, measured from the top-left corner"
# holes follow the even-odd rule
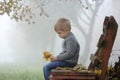
[[[44,80],[42,68],[0,67],[0,80]]]

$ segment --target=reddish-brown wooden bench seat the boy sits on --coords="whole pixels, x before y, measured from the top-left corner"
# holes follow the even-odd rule
[[[96,80],[96,74],[92,72],[74,72],[71,70],[51,71],[50,80]]]

